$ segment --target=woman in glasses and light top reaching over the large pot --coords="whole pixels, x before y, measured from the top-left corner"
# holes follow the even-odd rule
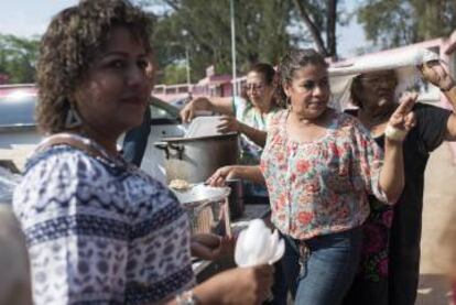
[[[280,109],[274,97],[274,76],[271,65],[256,64],[247,74],[241,97],[196,98],[181,111],[182,120],[189,122],[198,110],[221,113],[219,131],[241,133],[240,164],[258,165],[269,121]],[[268,192],[262,185],[246,183],[243,194],[249,204],[268,203]]]

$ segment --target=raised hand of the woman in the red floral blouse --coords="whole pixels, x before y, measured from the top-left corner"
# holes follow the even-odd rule
[[[402,138],[405,138],[406,133],[409,133],[409,131],[416,124],[416,118],[412,111],[413,106],[416,102],[416,98],[417,98],[416,92],[405,92],[401,97],[400,105],[398,106],[395,111],[392,113],[388,122],[388,124],[392,128],[392,130],[397,130],[397,132],[402,134],[401,135]],[[388,131],[386,133],[388,137]],[[394,137],[389,137],[389,138],[394,138]]]

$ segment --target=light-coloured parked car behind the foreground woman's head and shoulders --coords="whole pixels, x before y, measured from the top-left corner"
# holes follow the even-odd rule
[[[12,160],[22,170],[26,157],[43,139],[36,131],[34,111],[37,89],[34,85],[0,86],[0,161]],[[164,153],[153,143],[162,138],[183,137],[178,109],[163,100],[151,97],[151,133],[141,163],[150,175],[165,181]],[[121,145],[123,137],[119,140]]]

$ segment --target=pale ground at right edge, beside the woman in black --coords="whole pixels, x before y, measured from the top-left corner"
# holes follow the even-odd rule
[[[447,305],[449,287],[443,266],[442,233],[456,222],[456,166],[448,145],[432,153],[425,173],[422,257],[416,305]],[[456,242],[456,240],[454,241]]]

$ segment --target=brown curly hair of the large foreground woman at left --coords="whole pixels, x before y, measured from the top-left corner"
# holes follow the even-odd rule
[[[115,26],[126,26],[151,53],[150,18],[128,0],[82,0],[53,18],[40,45],[36,121],[45,133],[65,130],[72,96]]]

